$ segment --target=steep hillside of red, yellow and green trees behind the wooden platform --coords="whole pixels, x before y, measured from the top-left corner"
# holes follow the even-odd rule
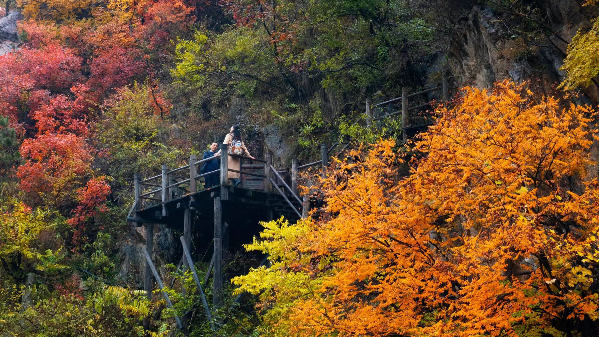
[[[410,151],[410,148],[403,148],[404,145],[387,143],[387,139],[390,139],[389,142],[400,139],[405,127],[401,115],[379,122],[375,127],[367,127],[367,98],[379,103],[400,97],[403,87],[416,92],[436,87],[447,80],[451,103],[437,106],[441,92],[431,92],[423,96],[423,101],[434,101],[431,110],[438,110],[428,112],[426,108],[416,113],[432,113],[438,118],[445,118],[448,125],[453,121],[447,116],[459,118],[458,110],[451,109],[453,106],[465,104],[465,116],[476,116],[476,109],[467,109],[468,100],[464,98],[467,95],[474,97],[471,99],[476,104],[485,102],[480,103],[480,109],[492,105],[495,98],[486,97],[472,88],[489,89],[489,92],[494,92],[492,95],[501,97],[503,101],[509,101],[506,97],[510,95],[518,99],[525,97],[534,104],[549,107],[547,111],[552,112],[559,110],[558,107],[568,108],[567,103],[570,102],[595,106],[599,103],[599,85],[595,81],[599,74],[599,54],[594,52],[599,48],[599,23],[596,20],[599,5],[596,2],[10,2],[10,7],[15,9],[0,18],[0,337],[11,336],[10,333],[18,336],[174,334],[170,328],[174,322],[173,312],[163,310],[164,303],[148,301],[136,292],[143,288],[145,263],[142,249],[146,230],[126,221],[134,200],[133,177],[134,174],[144,177],[158,174],[162,164],[170,168],[183,166],[189,161],[190,155],[201,157],[210,143],[223,141],[232,125],[241,126],[242,137],[253,156],[262,158],[271,152],[274,166],[288,169],[292,158],[300,158],[302,163],[319,158],[321,143],[350,143],[350,148],[359,148],[360,145],[367,146],[385,140],[375,148],[387,146],[393,153],[414,154],[415,158],[428,153],[423,144],[434,144],[419,143],[412,148],[415,151]],[[502,82],[506,79],[515,83],[526,82],[527,85]],[[498,82],[503,85],[492,89]],[[472,88],[462,92],[460,89],[464,86]],[[558,103],[553,104],[547,98],[553,95],[560,98]],[[526,100],[522,98],[522,102]],[[474,106],[476,104],[473,103]],[[522,107],[525,106],[522,103]],[[393,108],[391,105],[386,107]],[[564,127],[574,128],[575,132],[564,129],[559,130],[559,134],[570,138],[582,135],[580,137],[585,141],[568,143],[564,151],[573,151],[579,156],[591,153],[591,159],[596,160],[599,158],[597,140],[586,142],[587,138],[591,139],[586,132],[592,129],[594,121],[586,121],[585,118],[594,118],[592,110],[589,108],[579,115],[576,109],[582,108],[568,109],[565,116],[581,119],[573,122],[572,125],[576,124],[576,127]],[[527,115],[528,122],[544,118],[544,115],[537,115],[537,110],[533,110]],[[562,115],[557,113],[553,116],[555,121],[561,118],[559,116]],[[489,116],[489,120],[493,118],[498,117]],[[506,125],[509,128],[522,127],[522,130],[534,126],[522,123],[524,126]],[[497,122],[491,127],[496,125],[503,124]],[[453,127],[462,130],[463,125]],[[551,127],[553,124],[547,125],[547,128]],[[437,131],[444,134],[446,130]],[[540,139],[546,139],[543,138],[545,134],[541,136]],[[453,146],[447,139],[443,139],[443,142],[446,142],[443,143],[446,146]],[[484,143],[484,139],[481,142]],[[530,146],[530,151],[537,149]],[[564,152],[559,152],[559,156],[562,155]],[[370,158],[368,156],[367,152],[359,152],[348,158],[349,161],[359,158],[366,160]],[[383,180],[376,179],[391,179],[403,184],[403,180],[397,180],[398,177],[407,172],[408,166],[419,163],[403,163],[405,159],[389,159],[394,163],[392,170],[402,167],[401,171],[394,171],[397,176],[393,177],[388,176],[388,172],[383,174],[376,171],[380,163],[368,162],[374,167],[365,168],[376,171],[376,174],[369,176],[371,179],[364,183],[377,185],[377,181]],[[480,163],[487,163],[487,159],[485,157]],[[374,161],[373,158],[370,160]],[[563,179],[559,182],[562,185],[552,185],[554,182],[550,182],[546,192],[555,192],[560,198],[572,195],[568,194],[570,192],[582,195],[584,184],[581,181],[586,183],[596,177],[596,167],[586,159],[579,161],[568,157],[564,160],[574,163],[574,168],[579,168],[578,164],[583,163],[584,174],[574,169],[568,174],[565,171],[552,173]],[[341,168],[338,169],[335,172],[340,174],[339,179],[350,179],[341,174]],[[352,166],[347,170],[353,169],[355,167]],[[416,169],[413,167],[413,171]],[[504,174],[512,174],[509,167],[503,167],[502,170]],[[549,171],[547,169],[542,174],[550,175]],[[454,175],[458,176],[457,173]],[[548,175],[541,178],[552,180]],[[429,182],[416,183],[431,183],[440,189],[447,188],[443,183],[433,181],[437,177],[431,179]],[[494,177],[493,180],[499,182],[495,185],[506,182],[501,177]],[[568,188],[565,187],[566,181],[570,183]],[[343,189],[336,183],[331,181],[326,185],[328,187],[324,186],[319,191],[317,205],[325,209],[326,204],[322,203],[322,199],[325,195],[332,197],[331,188]],[[411,187],[406,188],[405,191]],[[459,188],[452,188],[455,190],[448,190],[462,195]],[[560,188],[565,188],[568,193],[559,194],[562,191]],[[396,192],[405,191],[398,189]],[[426,195],[422,190],[418,193]],[[585,197],[589,200],[594,198],[592,195]],[[394,202],[405,201],[392,199]],[[329,204],[333,202],[329,200]],[[589,201],[589,204],[592,203]],[[425,203],[419,203],[418,207],[425,209],[423,205]],[[526,204],[517,206],[528,210],[532,208],[527,208],[529,206]],[[323,210],[322,214],[325,215],[315,218],[315,221],[328,224],[325,221],[327,216],[334,219],[338,215],[334,210],[327,212]],[[582,222],[585,216],[592,216],[592,213],[581,214],[576,221]],[[506,219],[512,215],[510,213]],[[440,212],[434,216],[439,216],[435,224],[440,225],[443,222],[441,218],[447,214],[441,215]],[[405,218],[398,219],[395,220],[406,221]],[[559,222],[561,218],[552,221]],[[592,233],[591,227],[585,227],[583,234],[571,234],[574,230],[568,226],[565,225],[565,232],[571,240]],[[576,227],[573,224],[571,226]],[[459,235],[463,231],[459,231]],[[431,235],[433,233],[431,229]],[[452,233],[458,233],[458,230],[452,227],[445,234],[449,236]],[[198,319],[195,313],[198,309],[194,302],[196,298],[190,296],[185,299],[175,294],[183,288],[195,287],[189,275],[175,272],[181,254],[177,249],[178,236],[180,233],[177,230],[157,225],[153,234],[153,258],[159,265],[161,275],[167,276],[172,281],[170,286],[177,290],[173,290],[176,311],[188,320]],[[334,237],[329,239],[334,241]],[[295,243],[282,244],[291,247]],[[309,250],[309,245],[302,247]],[[568,247],[572,249],[568,254],[576,254],[574,251],[578,246]],[[201,249],[207,248],[197,248],[195,254],[204,254]],[[297,251],[289,251],[289,254],[295,253]],[[587,253],[594,254],[585,251]],[[559,254],[556,253],[566,260],[574,258],[563,251]],[[235,271],[247,271],[247,267],[255,262],[248,262],[242,255],[228,258],[228,266]],[[334,256],[326,256],[326,259],[329,258],[333,259]],[[301,260],[300,257],[298,259]],[[524,257],[515,258],[518,259]],[[590,257],[586,259],[592,260]],[[566,260],[564,263],[569,263]],[[536,261],[540,260],[537,258]],[[313,262],[302,267],[309,269],[320,263],[316,260]],[[299,268],[299,264],[295,266],[292,261],[286,263],[289,263],[285,264],[287,271]],[[399,262],[392,260],[389,263]],[[200,269],[205,267],[198,264]],[[329,267],[331,269],[326,269]],[[322,270],[333,269],[327,265]],[[590,270],[588,273],[592,273],[594,278],[596,269],[596,266],[592,266],[585,270]],[[320,282],[328,277],[320,274],[322,270],[313,270],[313,280]],[[356,270],[344,272],[349,275]],[[586,271],[580,273],[580,279],[587,277]],[[364,279],[356,282],[362,281]],[[555,282],[551,279],[545,281]],[[583,281],[580,281],[583,285],[577,285],[574,292],[584,288],[584,291],[588,291],[585,296],[597,302],[595,281],[588,281],[588,284]],[[239,281],[239,284],[243,284],[243,281]],[[228,284],[228,287],[231,290],[233,285]],[[264,290],[260,287],[256,289]],[[565,290],[560,288],[560,291]],[[208,291],[211,291],[210,288]],[[349,293],[348,290],[347,298],[350,297]],[[357,303],[374,295],[364,293],[363,296],[352,300]],[[274,301],[272,298],[269,300]],[[235,311],[235,314],[223,311],[219,334],[241,336],[255,333],[256,327],[264,323],[264,317],[252,310],[253,304],[258,301],[262,308],[270,308],[276,301],[269,300],[260,302],[252,297],[244,302],[245,311]],[[592,306],[595,303],[592,301],[585,303]],[[311,304],[302,305],[309,307]],[[531,307],[535,305],[530,304]],[[435,308],[425,308],[423,305],[418,310],[403,314],[406,314],[404,318],[424,315],[419,316],[420,321],[412,323],[429,327],[430,322],[426,317],[441,307],[443,305]],[[585,318],[576,322],[586,319],[580,323],[586,326],[589,320],[595,320],[596,317],[589,312],[594,311],[589,309],[580,313]],[[385,314],[389,312],[383,312],[381,317]],[[513,312],[510,311],[506,315],[511,314]],[[559,312],[555,315],[562,314]],[[229,318],[224,318],[228,315]],[[273,315],[271,312],[268,319],[272,319]],[[530,315],[534,319],[538,318],[536,314]],[[571,315],[574,317],[574,311]],[[341,316],[338,317],[340,320],[346,320]],[[364,319],[363,316],[359,318]],[[142,327],[140,323],[144,320],[147,323],[149,319],[153,322],[150,331],[144,332],[144,327],[147,329],[148,326]],[[304,321],[307,326],[310,325],[308,321]],[[555,321],[551,320],[543,321],[538,326],[531,323],[534,326],[530,328],[531,331],[541,329],[540,326],[543,331],[535,332],[536,335],[531,332],[530,336],[570,336],[565,330],[574,329],[577,324],[555,324],[556,330],[552,332],[547,326],[553,327],[553,323]],[[593,324],[586,327],[595,329]],[[197,325],[195,330],[192,329],[192,335],[213,333],[207,322],[201,321]],[[68,326],[66,330],[65,326]],[[289,333],[282,326],[277,327],[282,330],[267,329],[268,333]],[[349,324],[346,328],[344,333],[351,335],[350,328],[353,327]],[[500,328],[480,329],[480,335],[526,335],[514,330],[506,333]],[[416,330],[406,330],[404,335],[429,336],[443,329],[435,331],[431,328],[426,333]],[[355,334],[385,333],[382,330],[358,331]],[[398,333],[393,329],[386,332],[391,335]],[[299,332],[294,330],[294,333]],[[314,332],[313,335],[319,333],[343,335],[334,329]],[[591,336],[580,333],[580,336]]]

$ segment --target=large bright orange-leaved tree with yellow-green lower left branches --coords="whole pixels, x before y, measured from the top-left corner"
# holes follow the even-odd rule
[[[412,147],[337,160],[326,201],[269,222],[238,276],[276,336],[597,335],[594,111],[525,85],[464,88]]]

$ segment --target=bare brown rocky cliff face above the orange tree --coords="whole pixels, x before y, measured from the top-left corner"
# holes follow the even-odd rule
[[[473,7],[462,17],[447,51],[447,68],[453,86],[486,88],[502,79],[518,82],[540,79],[548,85],[561,82],[564,73],[559,68],[567,43],[579,28],[590,25],[596,13],[582,7],[582,2],[577,0],[537,1],[536,6],[547,13],[548,22],[543,23],[546,31],[556,34],[528,40],[521,37],[514,26],[529,19],[515,13],[499,13],[501,10],[484,5]]]

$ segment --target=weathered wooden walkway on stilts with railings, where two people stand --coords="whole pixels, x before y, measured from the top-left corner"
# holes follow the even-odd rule
[[[443,80],[442,85],[426,89],[424,91],[409,94],[407,88],[403,88],[401,97],[383,103],[374,104],[368,98],[366,100],[367,127],[374,127],[374,122],[401,113],[403,122],[403,140],[413,136],[418,130],[432,124],[432,119],[415,116],[414,124],[410,124],[409,112],[418,111],[429,106],[429,103],[409,107],[410,97],[426,94],[427,92],[443,90],[443,102],[447,101],[447,85]],[[394,104],[401,103],[401,109],[394,111]],[[378,111],[374,116],[373,109]],[[420,115],[420,114],[419,114]],[[412,134],[408,132],[412,130]],[[228,145],[220,145],[220,157],[211,157],[198,160],[195,155],[189,156],[189,164],[169,170],[162,166],[161,174],[142,179],[135,174],[135,202],[129,211],[127,220],[135,222],[138,226],[146,227],[146,268],[144,278],[144,290],[147,297],[152,298],[153,280],[158,283],[162,290],[164,284],[156,266],[152,261],[153,256],[153,233],[155,224],[165,224],[173,230],[183,233],[180,237],[181,263],[184,266],[193,266],[193,246],[208,247],[213,245],[213,255],[208,267],[207,275],[204,276],[204,285],[210,274],[213,275],[213,306],[219,308],[222,305],[223,286],[223,240],[224,244],[240,247],[243,243],[249,243],[252,237],[262,229],[259,221],[272,220],[285,216],[290,221],[305,218],[308,215],[310,200],[308,195],[298,193],[298,174],[300,170],[313,166],[320,166],[323,170],[328,167],[329,158],[333,149],[338,146],[323,144],[320,148],[321,159],[304,165],[299,160],[292,160],[292,166],[288,181],[283,179],[283,172],[273,167],[272,155],[266,154],[264,160],[252,160],[247,157],[239,157],[242,161],[251,164],[241,165],[241,170],[232,170],[228,167]],[[338,151],[341,154],[348,145]],[[337,155],[338,155],[337,154]],[[212,160],[220,160],[217,170],[199,174],[198,168],[202,164]],[[241,186],[232,186],[229,183],[228,172],[240,173]],[[198,182],[208,174],[218,174],[220,185],[212,188],[198,188]],[[177,179],[181,179],[177,181]],[[201,184],[200,184],[201,185]],[[193,221],[198,219],[198,221]],[[192,243],[195,243],[192,245]],[[265,260],[263,260],[263,263]],[[181,265],[180,263],[180,265]],[[201,292],[202,306],[205,315],[211,321],[211,312],[205,299],[200,277],[196,275],[195,269],[190,268],[193,278]],[[163,292],[168,305],[172,306],[168,294]],[[176,317],[177,324],[183,331],[187,330],[186,322]],[[147,325],[147,322],[146,322]]]

